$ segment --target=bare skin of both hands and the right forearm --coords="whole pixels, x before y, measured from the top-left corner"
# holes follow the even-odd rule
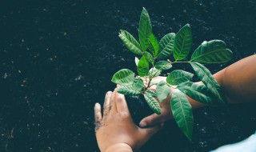
[[[255,102],[256,55],[235,62],[214,74],[214,78],[224,90],[229,103]],[[155,81],[165,79],[158,77],[155,78]],[[202,84],[202,82],[199,83]],[[155,86],[151,86],[150,89],[154,90]],[[186,97],[193,108],[206,106],[188,96]],[[138,150],[162,128],[163,122],[173,118],[170,110],[170,98],[171,94],[160,103],[162,114],[152,114],[143,118],[140,122],[141,127],[138,127],[130,117],[124,96],[118,94],[116,90],[114,93],[106,94],[103,117],[101,106],[98,103],[94,106],[96,137],[100,150],[106,152]]]

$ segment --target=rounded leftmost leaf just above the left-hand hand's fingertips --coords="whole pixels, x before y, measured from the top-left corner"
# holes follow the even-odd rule
[[[118,70],[111,81],[122,86],[132,85],[134,82],[134,72],[128,69]]]

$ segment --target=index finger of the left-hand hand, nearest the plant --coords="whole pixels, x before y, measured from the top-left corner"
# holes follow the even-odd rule
[[[114,97],[115,104],[117,106],[117,111],[122,112],[122,111],[129,111],[128,106],[126,103],[126,98],[123,94],[118,94],[118,92],[115,93]]]

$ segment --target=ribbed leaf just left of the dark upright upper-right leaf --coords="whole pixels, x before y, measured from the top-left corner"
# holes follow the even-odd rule
[[[159,42],[159,54],[157,58],[168,58],[174,51],[175,34],[166,34]]]

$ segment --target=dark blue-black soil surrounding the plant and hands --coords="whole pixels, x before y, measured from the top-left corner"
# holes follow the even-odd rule
[[[206,65],[212,72],[256,52],[254,0],[2,0],[1,152],[98,151],[94,103],[114,89],[110,79],[117,70],[135,71],[134,54],[122,45],[118,30],[138,38],[143,6],[158,40],[190,23],[193,49],[204,40],[225,41],[234,58]],[[256,129],[255,106],[230,106],[230,114],[194,110],[192,142],[169,122],[142,151],[206,151],[241,141]]]

